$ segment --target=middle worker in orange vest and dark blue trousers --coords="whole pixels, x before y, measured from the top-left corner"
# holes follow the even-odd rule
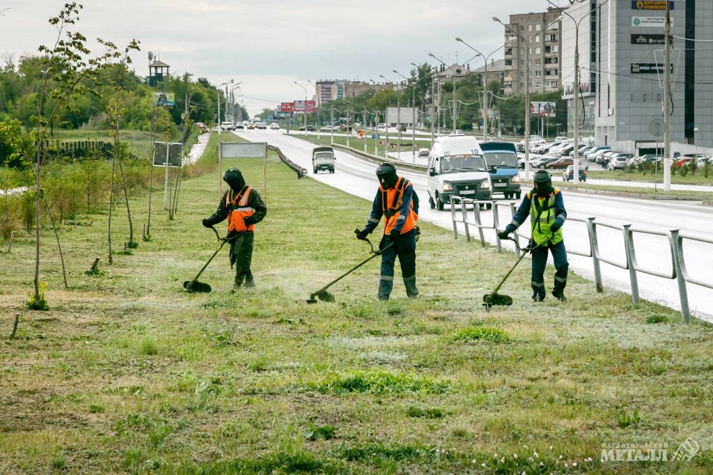
[[[391,295],[396,257],[399,257],[406,295],[415,299],[419,296],[419,290],[416,288],[416,241],[421,233],[416,226],[416,221],[419,220],[419,197],[414,191],[414,185],[397,175],[396,167],[391,163],[379,165],[379,168],[376,168],[376,178],[379,179],[379,190],[376,191],[371,215],[364,229],[359,231],[356,237],[364,239],[376,229],[381,217],[384,217],[384,236],[379,243],[379,249],[383,250],[379,300],[389,300]]]

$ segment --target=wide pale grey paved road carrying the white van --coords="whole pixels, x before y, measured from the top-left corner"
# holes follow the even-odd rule
[[[311,153],[312,143],[307,143],[299,138],[294,138],[281,133],[281,131],[250,131],[238,132],[238,135],[254,141],[267,141],[276,145],[282,152],[295,163],[312,170]],[[372,200],[377,187],[374,175],[374,163],[358,158],[352,153],[336,150],[337,170],[334,174],[320,173],[310,175],[315,180],[327,183],[334,188],[339,188],[352,195]],[[410,170],[401,170],[400,173],[411,180],[416,191],[421,197],[421,213],[419,218],[452,229],[451,213],[438,212],[429,209],[427,205],[426,175]],[[583,193],[566,193],[565,205],[572,218],[588,218],[595,216],[605,223],[632,224],[635,228],[650,230],[670,230],[680,228],[702,237],[713,236],[713,208],[702,206],[699,202],[661,202],[654,200],[637,200],[632,198],[618,198],[606,195],[586,195]],[[498,207],[501,208],[501,207]],[[369,206],[364,205],[364,222],[368,215]],[[508,223],[510,213],[506,208],[499,212],[501,223]],[[492,213],[483,211],[483,220],[492,223]],[[361,226],[364,223],[354,223]],[[565,226],[565,235],[568,249],[588,250],[588,234],[583,223],[570,221]],[[473,233],[476,234],[476,233]],[[486,238],[494,242],[495,235],[492,230],[486,230]],[[600,250],[602,255],[625,262],[623,240],[620,232],[602,228],[599,233]],[[670,251],[665,237],[651,235],[635,235],[637,258],[640,265],[667,272],[671,269]],[[713,280],[710,269],[713,268],[713,246],[696,245],[687,242],[686,252],[689,274],[702,280]],[[453,256],[457,258],[457,256]],[[592,260],[588,257],[570,255],[570,267],[580,275],[593,277]],[[628,292],[628,272],[612,267],[602,262],[602,277],[605,285]],[[642,297],[661,302],[670,307],[679,308],[677,285],[674,280],[665,280],[660,277],[639,274],[639,287]],[[696,285],[688,285],[689,303],[692,312],[713,321],[713,290]]]

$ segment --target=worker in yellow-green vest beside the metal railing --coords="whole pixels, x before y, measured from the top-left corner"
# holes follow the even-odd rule
[[[547,266],[548,250],[552,252],[555,262],[555,287],[552,295],[562,302],[565,301],[565,286],[567,285],[567,272],[569,263],[565,250],[562,226],[567,219],[565,202],[560,190],[552,187],[552,178],[545,170],[538,170],[534,176],[535,186],[528,191],[513,221],[505,230],[498,233],[498,237],[505,239],[510,233],[520,227],[530,215],[532,228],[533,271],[532,287],[533,300],[545,300],[545,267]]]

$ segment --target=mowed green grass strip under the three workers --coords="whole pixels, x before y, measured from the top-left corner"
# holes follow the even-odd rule
[[[262,190],[262,161],[225,160]],[[230,294],[227,250],[200,218],[218,173],[184,183],[175,220],[155,193],[152,240],[106,264],[106,215],[66,223],[71,289],[43,229],[48,312],[29,312],[34,244],[0,255],[3,473],[660,473],[713,470],[713,330],[573,276],[569,300],[530,302],[529,266],[484,312],[512,254],[421,223],[421,298],[399,279],[376,300],[378,260],[352,230],[370,203],[270,155],[254,290]],[[133,200],[140,229],[146,197]],[[114,240],[125,240],[116,208]],[[225,225],[219,226],[225,233]],[[565,232],[566,233],[566,232]],[[378,237],[375,237],[378,239]],[[116,245],[115,245],[116,246]],[[99,276],[84,275],[101,256]],[[398,276],[397,271],[397,276]],[[552,270],[547,273],[551,286]],[[8,339],[14,315],[15,339]],[[602,444],[700,445],[688,462],[600,462]]]

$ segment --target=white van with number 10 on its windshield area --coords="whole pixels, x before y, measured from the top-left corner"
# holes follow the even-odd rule
[[[429,155],[429,205],[443,210],[451,195],[490,201],[492,186],[478,139],[463,134],[436,138]],[[493,207],[488,204],[488,209]],[[482,206],[481,206],[482,208]]]

